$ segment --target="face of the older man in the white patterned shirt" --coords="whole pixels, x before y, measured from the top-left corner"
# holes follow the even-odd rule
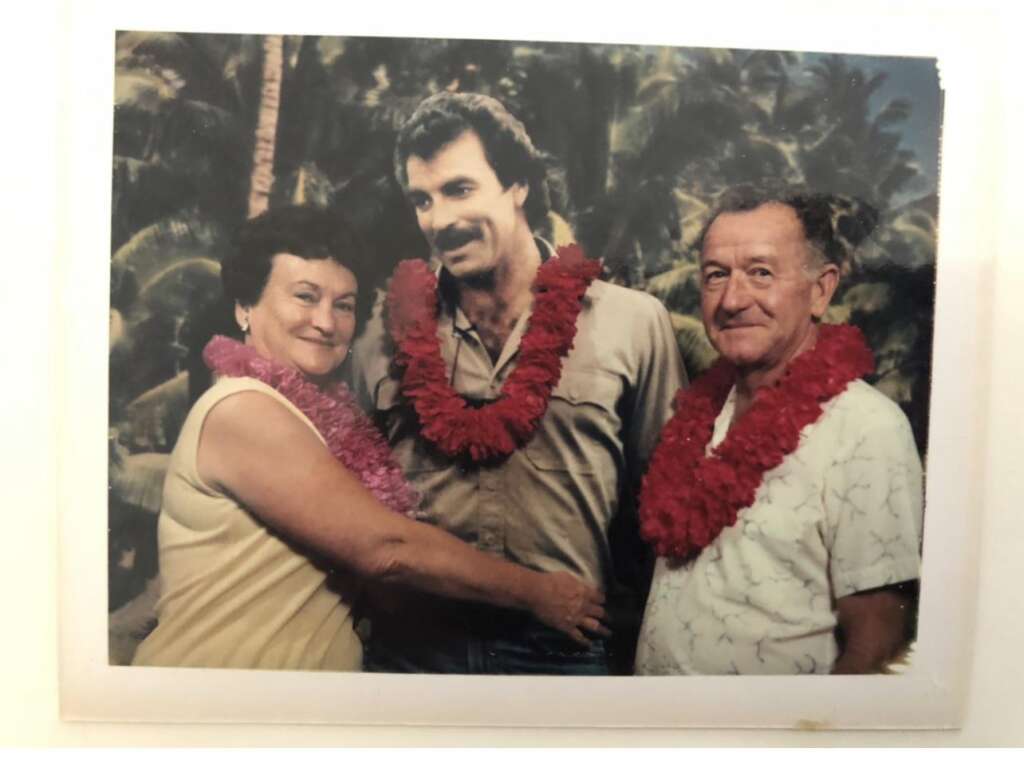
[[[834,264],[811,268],[796,212],[770,203],[725,213],[700,254],[700,309],[719,353],[741,370],[785,367],[810,347],[835,292]]]

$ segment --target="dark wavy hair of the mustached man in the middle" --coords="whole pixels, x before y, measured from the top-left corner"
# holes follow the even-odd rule
[[[518,182],[529,188],[524,205],[526,221],[532,229],[542,228],[551,208],[551,158],[534,145],[521,121],[487,95],[444,91],[423,100],[398,131],[394,147],[398,183],[402,187],[409,183],[406,162],[411,156],[428,161],[467,130],[480,138],[487,163],[503,187]]]

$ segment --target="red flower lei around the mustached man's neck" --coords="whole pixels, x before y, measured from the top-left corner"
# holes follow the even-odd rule
[[[558,384],[583,296],[600,271],[601,263],[586,259],[579,246],[559,248],[541,265],[516,367],[499,398],[473,409],[447,381],[437,338],[436,276],[425,261],[399,263],[387,294],[388,331],[403,368],[402,394],[419,416],[423,436],[449,457],[474,462],[507,457],[525,444]]]

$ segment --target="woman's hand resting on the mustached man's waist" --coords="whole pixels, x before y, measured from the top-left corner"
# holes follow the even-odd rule
[[[544,573],[534,586],[530,611],[547,626],[561,631],[577,643],[590,646],[594,636],[606,638],[604,593],[568,573]]]

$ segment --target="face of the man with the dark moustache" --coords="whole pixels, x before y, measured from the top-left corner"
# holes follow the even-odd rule
[[[502,186],[472,130],[429,159],[411,156],[406,172],[420,229],[455,277],[493,271],[528,236],[526,186]]]

